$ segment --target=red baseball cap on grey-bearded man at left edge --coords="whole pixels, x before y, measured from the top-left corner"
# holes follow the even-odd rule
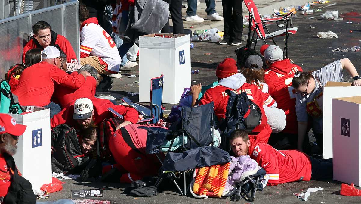
[[[16,124],[15,119],[4,113],[0,113],[0,134],[9,133],[10,135],[20,136],[25,132],[26,126]]]

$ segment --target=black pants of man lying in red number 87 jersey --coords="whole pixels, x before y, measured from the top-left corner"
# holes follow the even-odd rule
[[[310,157],[312,165],[312,180],[332,179],[332,159],[314,159]]]

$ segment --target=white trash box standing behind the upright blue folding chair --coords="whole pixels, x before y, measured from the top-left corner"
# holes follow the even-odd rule
[[[190,35],[161,34],[172,38],[139,37],[139,102],[149,102],[151,78],[164,74],[163,102],[176,104],[191,86]]]

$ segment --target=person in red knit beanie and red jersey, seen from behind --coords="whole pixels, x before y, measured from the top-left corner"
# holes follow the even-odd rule
[[[218,85],[206,90],[203,98],[200,99],[199,105],[204,105],[210,102],[214,102],[214,110],[218,120],[226,118],[226,107],[229,96],[226,94],[226,90],[232,90],[236,94],[246,92],[249,99],[256,103],[262,112],[261,124],[253,129],[254,135],[263,138],[268,141],[271,134],[271,128],[267,124],[267,117],[263,109],[263,105],[271,107],[274,104],[274,100],[268,93],[262,92],[258,86],[249,84],[246,82],[246,78],[238,73],[236,61],[232,58],[226,58],[223,60],[216,69],[216,76],[218,78]],[[201,85],[194,85],[191,88],[192,98],[198,98],[198,94],[201,90]],[[193,100],[193,105],[195,101]]]

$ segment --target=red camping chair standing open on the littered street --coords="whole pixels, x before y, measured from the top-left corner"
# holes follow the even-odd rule
[[[258,9],[253,2],[253,0],[243,0],[244,4],[246,5],[248,12],[249,12],[249,32],[248,32],[248,39],[247,39],[247,47],[251,47],[252,43],[255,43],[255,46],[253,49],[256,48],[256,44],[258,41],[262,40],[265,44],[267,44],[266,40],[271,39],[272,42],[276,45],[276,42],[273,38],[284,36],[286,35],[286,43],[284,44],[284,50],[286,50],[286,58],[288,55],[288,36],[290,34],[296,34],[297,27],[288,27],[292,25],[292,12],[288,13],[282,17],[279,18],[261,18],[260,13],[258,13]],[[278,25],[278,22],[283,22],[283,24],[286,24],[286,28],[283,30],[278,30],[275,32],[270,33],[268,30],[266,23],[270,22],[276,22]],[[267,30],[267,34],[265,33],[265,29]],[[251,28],[254,29],[251,39]],[[257,37],[255,38],[255,34],[257,33]]]

